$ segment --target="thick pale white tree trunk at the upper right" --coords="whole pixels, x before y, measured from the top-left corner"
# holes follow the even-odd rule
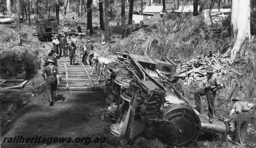
[[[242,43],[246,38],[250,41],[250,0],[232,0],[231,26],[236,42],[231,50],[231,61],[236,58],[237,51],[243,53]]]

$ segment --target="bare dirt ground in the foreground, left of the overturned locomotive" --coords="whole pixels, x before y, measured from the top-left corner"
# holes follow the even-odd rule
[[[12,120],[9,131],[1,135],[4,137],[102,137],[101,112],[108,107],[105,97],[101,92],[95,91],[57,91],[57,101],[54,106],[49,106],[46,92],[38,97],[31,97],[31,102],[21,108]],[[60,96],[63,95],[63,96]],[[105,120],[109,122],[106,116]],[[110,122],[109,122],[110,123]],[[106,125],[108,126],[108,125]],[[106,141],[113,145],[109,128],[105,126]],[[17,147],[100,147],[100,144],[90,143],[41,143],[29,144],[1,144],[5,148]]]

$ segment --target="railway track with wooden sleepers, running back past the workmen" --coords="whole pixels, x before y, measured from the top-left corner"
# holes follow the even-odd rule
[[[19,29],[14,29],[20,31]],[[32,35],[32,31],[23,30],[28,35]],[[42,42],[42,51],[46,53],[52,49],[52,42]],[[62,54],[63,55],[63,54]],[[80,59],[80,58],[79,58]],[[76,65],[70,65],[69,57],[62,57],[58,59],[58,70],[60,75],[59,90],[97,90],[99,89],[98,78],[96,74],[92,73],[93,67],[89,65],[83,65],[81,60],[76,57]],[[88,61],[89,62],[89,61]],[[94,68],[94,71],[96,69]]]

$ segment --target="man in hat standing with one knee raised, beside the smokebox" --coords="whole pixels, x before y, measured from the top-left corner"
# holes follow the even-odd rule
[[[195,97],[195,106],[194,108],[201,113],[201,98],[200,96],[206,96],[208,101],[208,110],[209,110],[209,122],[212,123],[212,117],[214,113],[214,99],[216,95],[216,90],[219,90],[223,87],[222,82],[220,81],[220,78],[214,74],[213,67],[208,66],[206,67],[206,73],[207,73],[207,82],[205,83],[205,87],[201,89],[197,89],[194,92]]]

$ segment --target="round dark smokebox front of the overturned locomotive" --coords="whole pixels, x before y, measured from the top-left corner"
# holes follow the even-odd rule
[[[169,146],[185,146],[196,141],[200,134],[194,111],[186,105],[172,105],[163,111],[170,125],[160,124],[157,135]]]

